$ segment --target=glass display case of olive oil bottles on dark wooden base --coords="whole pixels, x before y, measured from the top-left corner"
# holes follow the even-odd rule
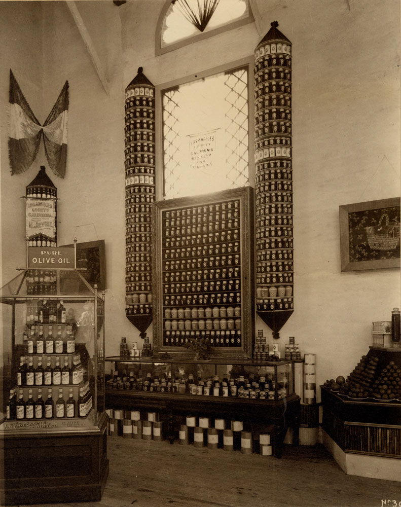
[[[0,301],[0,499],[23,503],[27,491],[35,503],[100,499],[108,472],[104,293],[76,269],[24,269]]]

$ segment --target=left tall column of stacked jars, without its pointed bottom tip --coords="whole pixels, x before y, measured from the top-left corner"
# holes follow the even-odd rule
[[[152,314],[155,87],[138,68],[125,90],[126,314]]]

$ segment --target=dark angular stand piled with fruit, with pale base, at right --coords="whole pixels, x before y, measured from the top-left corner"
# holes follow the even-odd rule
[[[346,474],[401,481],[400,368],[401,349],[370,347],[348,394],[320,386],[323,444]]]

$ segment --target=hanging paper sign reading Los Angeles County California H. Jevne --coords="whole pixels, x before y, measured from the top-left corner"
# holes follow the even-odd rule
[[[56,235],[55,201],[53,199],[26,199],[26,236]]]

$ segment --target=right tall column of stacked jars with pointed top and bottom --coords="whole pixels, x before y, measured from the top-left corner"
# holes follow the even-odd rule
[[[273,338],[294,311],[291,43],[271,28],[255,51],[256,307]]]

